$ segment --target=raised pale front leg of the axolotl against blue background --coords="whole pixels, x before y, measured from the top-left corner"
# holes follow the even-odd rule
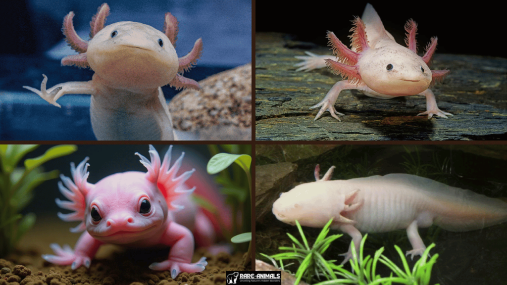
[[[90,94],[94,95],[96,93],[95,88],[93,87],[93,82],[90,81],[72,81],[72,82],[65,82],[57,84],[51,88],[46,89],[46,83],[48,82],[48,77],[44,74],[44,79],[41,83],[41,90],[29,87],[29,86],[23,86],[23,88],[28,89],[37,95],[41,96],[44,100],[48,101],[50,104],[53,104],[57,107],[60,107],[60,104],[56,102],[58,98],[65,94]]]

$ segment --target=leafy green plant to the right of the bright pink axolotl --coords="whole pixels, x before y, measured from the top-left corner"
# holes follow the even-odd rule
[[[250,148],[251,152],[251,147],[249,145],[226,145],[222,147],[229,152],[239,154],[217,153],[218,147],[210,147],[211,153],[214,155],[208,162],[207,171],[209,174],[219,173],[215,180],[222,185],[221,192],[227,196],[226,201],[232,207],[232,235],[234,236],[231,237],[231,234],[227,232],[224,232],[224,236],[234,243],[249,241],[247,256],[244,261],[244,265],[247,265],[250,262],[251,255],[251,156],[244,153],[248,152],[246,148]],[[235,164],[236,167],[232,167],[232,172],[229,172],[227,168],[232,164]],[[245,175],[241,172],[246,175],[246,180],[244,179]],[[213,210],[211,211],[213,212]],[[237,215],[235,215],[238,211],[242,217],[241,224],[238,223]],[[239,225],[241,228],[238,228]]]

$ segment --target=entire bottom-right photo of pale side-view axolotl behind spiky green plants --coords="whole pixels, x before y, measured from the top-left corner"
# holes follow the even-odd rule
[[[505,145],[258,145],[256,270],[283,270],[283,284],[505,284],[506,170]]]

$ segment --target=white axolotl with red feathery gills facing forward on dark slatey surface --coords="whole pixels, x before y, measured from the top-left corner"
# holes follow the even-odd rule
[[[337,82],[324,99],[310,109],[321,107],[315,116],[317,120],[325,111],[329,111],[333,118],[341,121],[338,115],[344,115],[335,110],[334,104],[342,90],[356,89],[365,95],[390,99],[399,96],[426,96],[426,112],[417,114],[433,115],[447,118],[450,113],[440,110],[435,95],[429,87],[436,81],[442,81],[449,70],[430,70],[428,65],[437,48],[437,37],[431,38],[423,57],[417,55],[415,39],[417,24],[408,20],[405,25],[408,48],[397,44],[392,35],[385,30],[379,15],[371,4],[367,4],[363,16],[356,17],[350,36],[352,49],[347,48],[332,31],[328,31],[329,45],[333,48],[334,56],[319,56],[306,52],[309,56],[296,56],[303,62],[299,70],[312,70],[328,66],[334,74],[341,75],[344,80]],[[348,80],[345,80],[348,79]]]

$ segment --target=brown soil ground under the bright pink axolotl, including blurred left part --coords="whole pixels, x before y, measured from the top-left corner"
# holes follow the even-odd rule
[[[167,259],[169,248],[150,250],[125,250],[116,245],[100,247],[89,269],[81,266],[71,270],[70,266],[57,266],[41,258],[42,254],[53,254],[49,244],[65,243],[74,247],[80,234],[68,231],[70,223],[54,217],[38,217],[17,249],[5,259],[0,259],[0,285],[88,285],[88,284],[225,284],[227,270],[251,270],[242,266],[244,254],[233,256],[225,253],[211,255],[204,249],[196,250],[192,262],[205,256],[206,269],[199,273],[180,273],[176,279],[169,271],[153,271],[148,266]]]

